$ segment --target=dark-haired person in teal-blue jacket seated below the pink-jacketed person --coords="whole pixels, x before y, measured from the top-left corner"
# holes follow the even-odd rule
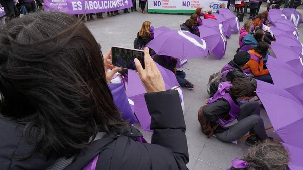
[[[259,29],[253,32],[250,32],[245,36],[242,40],[240,50],[239,51],[249,51],[251,47],[256,46],[260,41],[263,41],[264,38],[264,31]]]

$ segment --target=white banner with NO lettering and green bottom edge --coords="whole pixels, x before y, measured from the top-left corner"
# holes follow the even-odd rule
[[[216,12],[222,3],[227,5],[227,0],[148,0],[148,12],[194,13],[198,7],[204,7],[204,11],[212,9]]]

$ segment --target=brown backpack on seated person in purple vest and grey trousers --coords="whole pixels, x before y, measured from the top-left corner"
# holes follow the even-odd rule
[[[199,109],[198,120],[201,125],[202,133],[207,135],[208,138],[210,138],[212,136],[212,134],[215,132],[216,128],[218,128],[219,124],[216,124],[213,127],[212,123],[205,118],[205,116],[203,114],[203,109],[206,107],[207,107],[207,105],[204,105]],[[229,114],[227,114],[223,119],[226,119],[228,116],[229,116]]]

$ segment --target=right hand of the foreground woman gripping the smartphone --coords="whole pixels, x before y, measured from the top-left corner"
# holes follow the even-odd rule
[[[135,59],[138,75],[147,93],[165,91],[164,80],[154,60],[149,55],[149,48],[144,49],[145,69],[138,59]]]

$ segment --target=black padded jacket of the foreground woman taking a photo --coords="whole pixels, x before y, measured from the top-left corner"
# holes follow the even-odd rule
[[[189,161],[186,126],[177,90],[145,94],[148,111],[152,117],[150,129],[154,130],[151,144],[140,143],[133,137],[142,134],[129,126],[124,132],[107,134],[92,142],[83,154],[75,157],[65,170],[80,170],[99,154],[96,170],[111,169],[187,169]],[[46,159],[37,153],[17,161],[12,155],[24,155],[33,149],[23,137],[23,125],[0,119],[0,164],[2,170],[45,169],[57,158]]]

